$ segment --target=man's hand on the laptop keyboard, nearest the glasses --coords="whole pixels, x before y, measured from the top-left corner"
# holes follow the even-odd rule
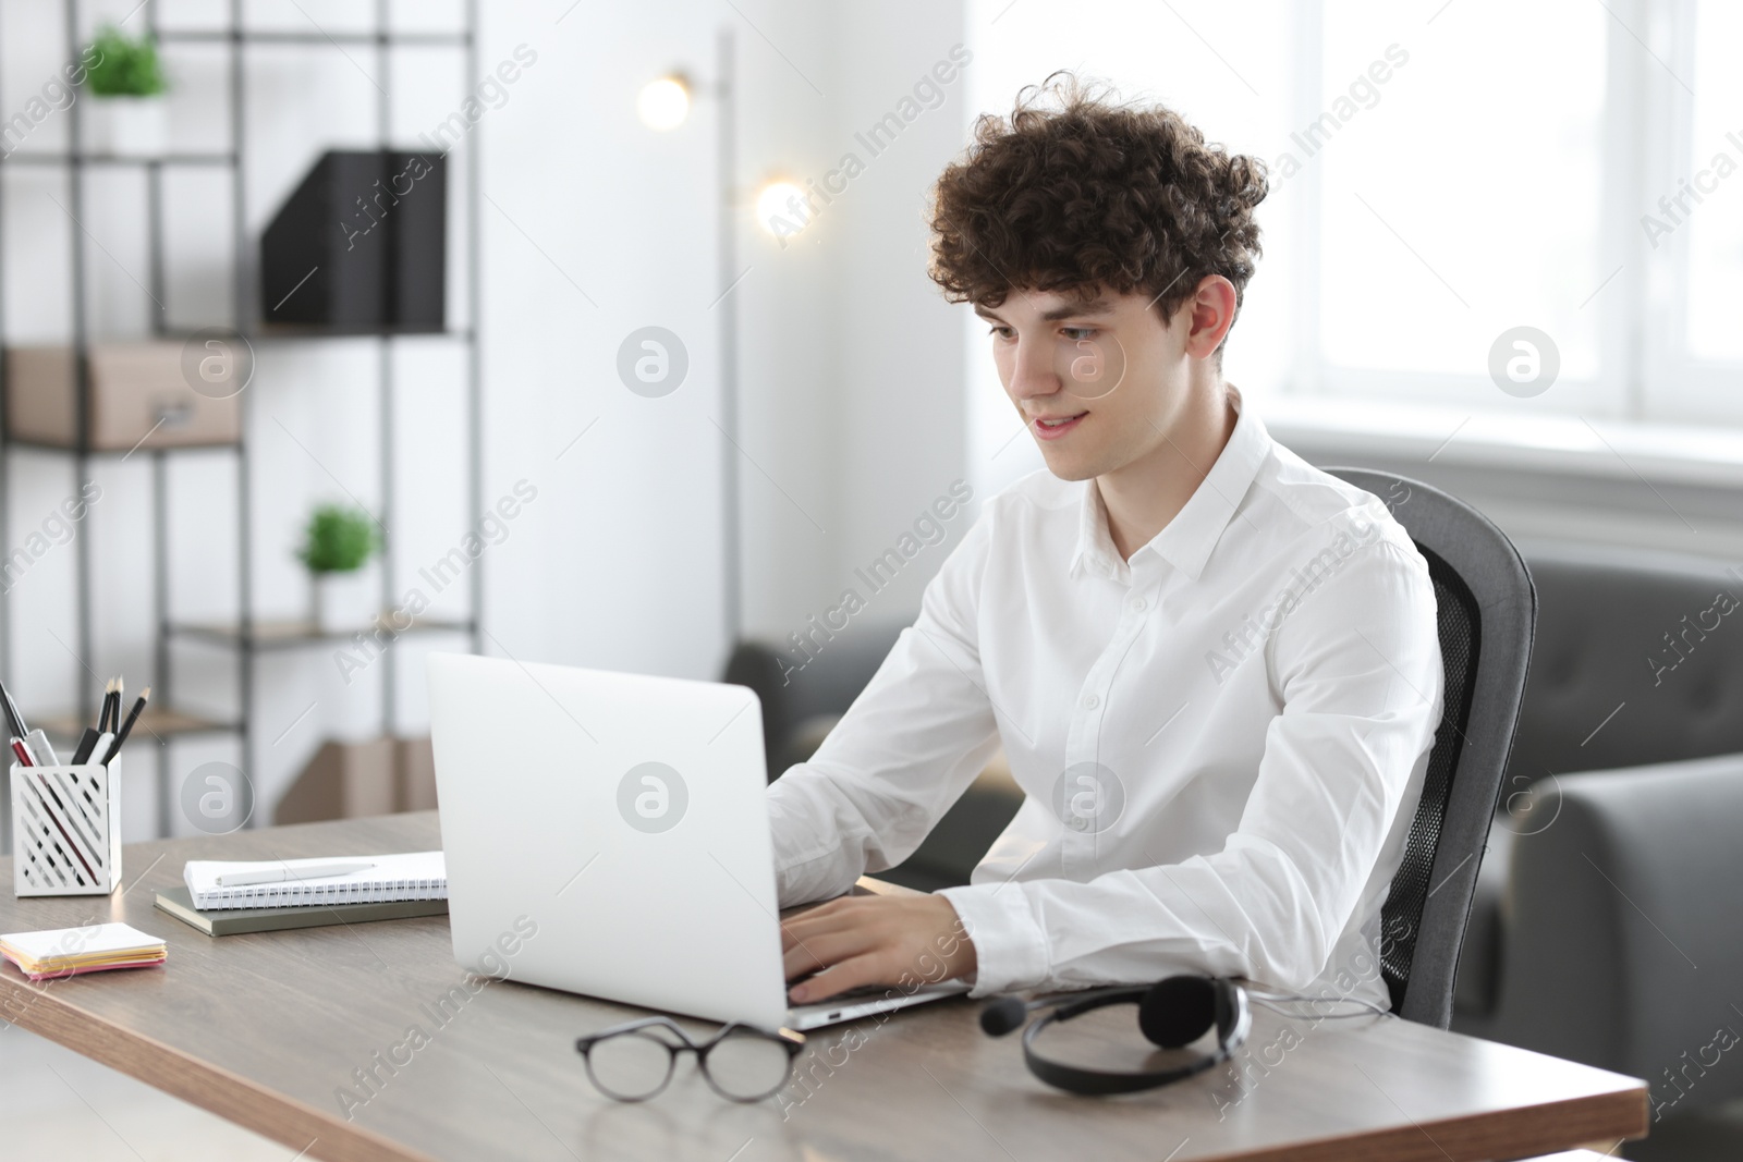
[[[804,1005],[865,984],[919,988],[971,977],[974,942],[943,895],[844,895],[781,923],[790,996]]]

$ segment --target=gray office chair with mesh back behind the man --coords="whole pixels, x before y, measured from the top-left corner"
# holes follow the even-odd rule
[[[1379,497],[1428,561],[1440,606],[1445,704],[1405,859],[1382,908],[1393,1012],[1447,1028],[1476,869],[1513,749],[1537,591],[1513,542],[1476,509],[1387,472],[1326,469]]]

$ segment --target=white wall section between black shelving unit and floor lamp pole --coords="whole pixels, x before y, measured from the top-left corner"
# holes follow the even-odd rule
[[[485,12],[485,59],[521,42],[540,54],[483,125],[486,495],[521,476],[540,488],[485,563],[486,648],[702,678],[723,652],[715,108],[655,134],[634,98],[671,68],[711,70],[711,5],[584,7],[556,24],[565,7]],[[617,378],[643,326],[688,352],[661,399]]]

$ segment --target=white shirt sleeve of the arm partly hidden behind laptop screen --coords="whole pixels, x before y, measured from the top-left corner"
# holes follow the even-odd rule
[[[990,519],[927,584],[919,620],[817,753],[769,784],[783,908],[905,861],[997,749],[976,641]]]

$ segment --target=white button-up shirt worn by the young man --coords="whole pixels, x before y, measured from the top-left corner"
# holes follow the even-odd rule
[[[1002,742],[1023,807],[943,890],[974,995],[1206,972],[1389,1003],[1380,904],[1441,709],[1434,589],[1386,505],[1231,401],[1229,444],[1129,561],[1093,481],[987,500],[840,725],[770,784],[783,906],[899,864]]]

